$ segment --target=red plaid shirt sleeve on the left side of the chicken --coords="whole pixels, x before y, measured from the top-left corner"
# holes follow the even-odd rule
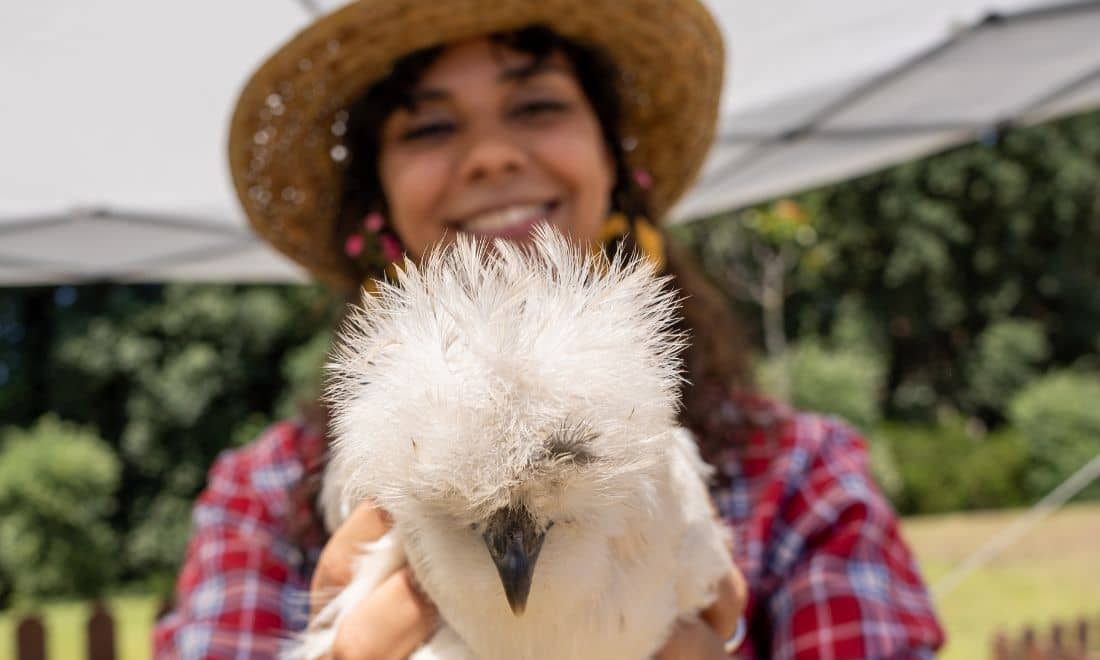
[[[285,532],[301,476],[289,425],[223,453],[194,510],[173,612],[157,623],[157,659],[274,658],[308,617],[308,578]]]

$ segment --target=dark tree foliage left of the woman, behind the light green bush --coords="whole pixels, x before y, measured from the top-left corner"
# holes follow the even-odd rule
[[[217,454],[316,397],[340,305],[300,286],[96,286],[59,296],[64,288],[6,296],[12,322],[33,331],[9,383],[7,400],[21,405],[6,417],[25,425],[53,410],[98,429],[122,465],[117,563],[130,576],[170,573]]]

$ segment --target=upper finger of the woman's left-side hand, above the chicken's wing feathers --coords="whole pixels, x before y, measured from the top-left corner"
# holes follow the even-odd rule
[[[359,505],[324,544],[309,585],[310,616],[316,615],[352,578],[354,560],[363,544],[376,541],[389,530],[391,520],[370,503]]]

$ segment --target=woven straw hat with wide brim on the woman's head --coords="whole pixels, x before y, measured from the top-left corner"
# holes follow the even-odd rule
[[[286,43],[241,92],[230,167],[255,231],[316,277],[358,284],[333,239],[345,108],[405,55],[537,24],[598,48],[622,72],[624,148],[651,175],[659,219],[714,139],[725,55],[701,0],[360,0]]]

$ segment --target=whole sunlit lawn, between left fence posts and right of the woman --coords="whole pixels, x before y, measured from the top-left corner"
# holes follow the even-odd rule
[[[950,514],[909,518],[905,538],[930,584],[1010,525],[1021,512]],[[1034,529],[986,568],[938,598],[949,641],[943,658],[989,658],[998,628],[1019,632],[1081,615],[1100,624],[1100,505],[1067,507]],[[146,596],[110,598],[120,660],[150,657],[150,627],[156,602]],[[85,603],[52,603],[43,608],[51,660],[82,660]],[[19,613],[0,613],[0,660],[14,658]]]

